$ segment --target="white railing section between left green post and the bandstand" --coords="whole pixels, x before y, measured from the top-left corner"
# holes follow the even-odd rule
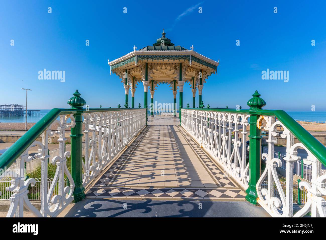
[[[146,126],[146,109],[84,113],[83,117],[85,159],[82,167],[83,186],[86,186]]]

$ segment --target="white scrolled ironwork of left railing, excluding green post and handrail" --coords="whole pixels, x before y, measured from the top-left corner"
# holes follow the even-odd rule
[[[86,186],[100,171],[146,126],[146,109],[130,109],[122,111],[84,113],[84,136],[86,149],[91,148],[90,154],[85,155],[83,161],[83,185]],[[68,119],[71,121],[69,122]],[[69,122],[69,123],[68,123]],[[10,178],[11,185],[6,191],[11,191],[10,207],[7,217],[23,217],[23,208],[26,207],[36,217],[56,217],[62,210],[74,200],[74,181],[67,168],[67,158],[70,151],[64,151],[65,133],[67,129],[75,126],[73,114],[60,115],[60,121],[54,120],[44,131],[42,143],[34,141],[16,160],[16,169],[8,169],[2,177]],[[57,127],[57,131],[51,130]],[[48,137],[59,135],[59,156],[49,159]],[[92,137],[92,140],[88,139]],[[40,211],[32,205],[28,198],[30,189],[36,184],[36,180],[25,180],[24,164],[31,161],[28,151],[32,146],[38,147],[38,154],[34,158],[41,159],[40,184]],[[82,151],[82,149],[80,149]],[[86,153],[88,151],[85,151]],[[49,159],[49,163],[48,163]],[[56,172],[48,187],[48,164],[56,165]],[[65,179],[65,175],[67,178]],[[1,177],[1,176],[0,176]],[[67,179],[69,186],[67,186]],[[66,187],[65,187],[66,185]],[[2,193],[0,192],[0,195]]]

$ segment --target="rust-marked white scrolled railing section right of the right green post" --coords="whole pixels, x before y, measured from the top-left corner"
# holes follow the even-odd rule
[[[303,143],[294,143],[294,135],[280,121],[275,121],[271,116],[260,116],[258,119],[258,128],[262,128],[262,122],[266,121],[264,127],[268,130],[268,153],[262,153],[262,158],[266,160],[266,167],[261,174],[256,185],[258,199],[257,202],[273,217],[303,217],[311,212],[311,217],[326,217],[326,175],[321,172],[321,162],[304,146]],[[283,128],[283,131],[277,130]],[[286,139],[286,187],[282,188],[281,182],[277,176],[276,168],[282,167],[282,161],[274,155],[274,144],[276,137]],[[302,209],[293,215],[293,174],[294,162],[301,158],[297,156],[297,150],[304,149],[308,157],[303,159],[304,163],[311,166],[311,183],[300,182],[301,190],[307,192],[306,204]],[[267,181],[267,188],[262,184]],[[276,185],[277,196],[274,192]]]

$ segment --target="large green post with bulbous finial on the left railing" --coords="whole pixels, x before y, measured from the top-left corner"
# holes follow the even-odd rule
[[[71,128],[71,176],[75,182],[74,202],[85,198],[85,188],[82,186],[82,106],[86,104],[81,94],[76,90],[74,97],[68,100],[72,109],[77,109],[74,114],[76,125]]]

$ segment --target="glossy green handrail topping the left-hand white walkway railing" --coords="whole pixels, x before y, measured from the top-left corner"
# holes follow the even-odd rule
[[[0,169],[9,167],[16,159],[30,146],[51,124],[57,119],[58,116],[64,114],[73,114],[80,112],[83,113],[100,113],[100,112],[113,112],[113,111],[128,111],[131,109],[139,108],[90,108],[86,111],[83,109],[60,109],[53,108],[44,117],[41,118],[31,129],[29,129],[21,138],[17,140],[11,147],[9,147],[4,154],[0,156]],[[143,108],[141,108],[143,109]]]

